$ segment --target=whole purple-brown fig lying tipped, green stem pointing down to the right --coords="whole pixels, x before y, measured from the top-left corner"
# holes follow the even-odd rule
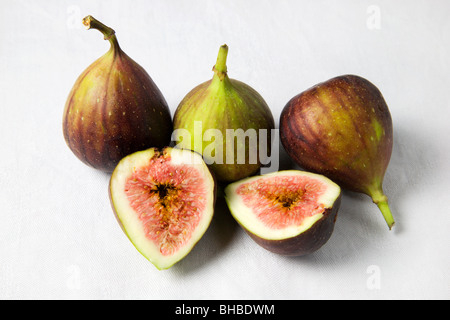
[[[382,189],[392,153],[392,119],[375,85],[343,75],[293,97],[281,112],[280,140],[300,167],[369,195],[392,228]]]

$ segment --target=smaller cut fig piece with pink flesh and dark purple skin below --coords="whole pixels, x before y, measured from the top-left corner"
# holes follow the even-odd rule
[[[325,176],[286,170],[254,176],[225,188],[231,214],[263,248],[301,256],[331,237],[341,189]]]

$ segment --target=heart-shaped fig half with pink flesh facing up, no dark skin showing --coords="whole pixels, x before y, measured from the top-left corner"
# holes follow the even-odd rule
[[[166,147],[123,158],[112,173],[109,194],[125,234],[162,270],[183,259],[207,230],[215,189],[201,155]]]

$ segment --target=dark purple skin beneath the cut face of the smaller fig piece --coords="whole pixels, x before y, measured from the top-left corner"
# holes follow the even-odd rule
[[[258,237],[243,229],[261,247],[273,253],[283,256],[304,256],[319,250],[331,237],[337,219],[337,213],[341,205],[342,193],[336,199],[332,208],[325,209],[323,217],[320,218],[308,230],[298,236],[283,240],[268,240]]]

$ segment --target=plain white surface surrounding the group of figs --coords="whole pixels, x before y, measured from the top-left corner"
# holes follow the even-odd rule
[[[117,224],[109,176],[66,146],[62,112],[78,75],[109,43],[92,14],[152,76],[172,114],[228,71],[286,102],[342,74],[369,79],[394,123],[384,188],[389,231],[365,195],[345,192],[335,231],[300,258],[269,253],[222,200],[205,236],[158,271]],[[0,3],[0,298],[449,299],[450,2],[2,1]],[[291,166],[285,154],[281,168]]]

